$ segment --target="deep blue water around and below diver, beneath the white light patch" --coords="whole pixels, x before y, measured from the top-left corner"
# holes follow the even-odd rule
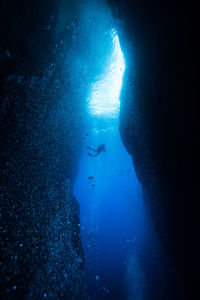
[[[141,186],[136,178],[131,157],[126,152],[117,120],[101,120],[86,138],[74,193],[80,202],[82,242],[87,272],[94,289],[123,286],[126,254],[143,227]],[[86,145],[106,144],[106,152],[88,156]],[[88,179],[94,176],[94,179]],[[134,199],[134,201],[133,201]],[[135,217],[134,217],[135,216]],[[134,230],[133,230],[134,228]],[[117,289],[118,290],[118,289]],[[120,289],[122,292],[122,288]]]

